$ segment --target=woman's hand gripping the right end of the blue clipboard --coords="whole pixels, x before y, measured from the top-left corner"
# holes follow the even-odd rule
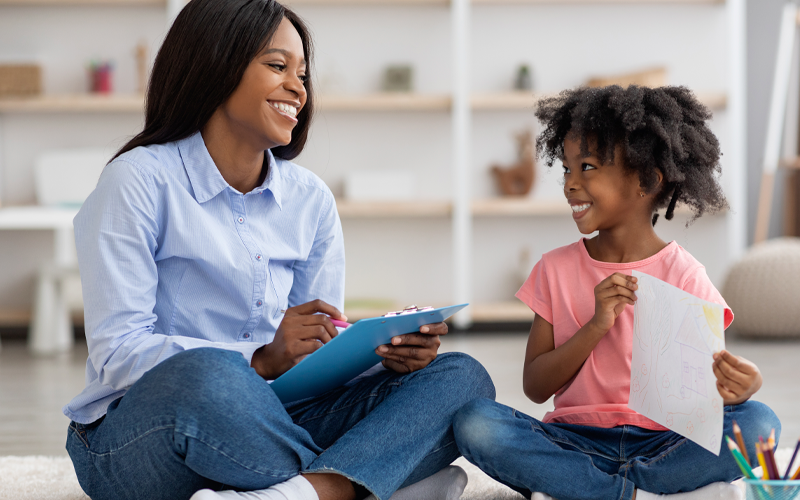
[[[428,366],[439,351],[439,335],[447,334],[447,325],[434,323],[419,329],[420,333],[408,333],[392,338],[391,344],[375,349],[384,358],[383,366],[398,373],[411,373]]]

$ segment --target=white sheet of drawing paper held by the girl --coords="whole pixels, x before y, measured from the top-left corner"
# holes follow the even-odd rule
[[[719,455],[723,405],[712,354],[725,348],[724,308],[639,271],[633,276],[628,407]]]

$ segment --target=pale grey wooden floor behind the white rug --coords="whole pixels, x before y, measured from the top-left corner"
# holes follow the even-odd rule
[[[443,351],[478,359],[498,388],[498,401],[541,418],[552,400],[537,405],[522,393],[524,334],[468,333],[445,337]],[[800,437],[800,341],[728,340],[728,348],[754,361],[764,375],[755,399],[775,410],[783,423],[784,446]],[[0,456],[65,455],[69,421],[61,407],[84,385],[86,344],[67,355],[37,358],[22,341],[4,341],[0,350]]]

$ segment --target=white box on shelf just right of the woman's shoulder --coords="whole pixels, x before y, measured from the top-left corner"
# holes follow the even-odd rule
[[[352,201],[404,201],[414,198],[414,174],[403,170],[357,170],[344,179]]]

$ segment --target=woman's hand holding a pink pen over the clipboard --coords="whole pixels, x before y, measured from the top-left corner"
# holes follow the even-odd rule
[[[329,316],[347,320],[338,309],[321,300],[290,307],[275,339],[253,353],[250,366],[266,380],[280,377],[338,334]]]

